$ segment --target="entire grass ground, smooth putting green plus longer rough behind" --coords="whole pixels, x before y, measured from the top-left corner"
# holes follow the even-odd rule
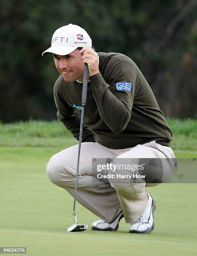
[[[187,132],[181,128],[190,121],[170,120],[174,137],[187,138],[187,149],[173,144],[177,157],[197,156],[195,120]],[[47,179],[45,165],[77,141],[56,121],[0,124],[0,131],[0,247],[25,246],[32,256],[197,254],[197,184],[148,188],[157,202],[156,227],[148,235],[129,234],[124,220],[116,232],[93,231],[90,226],[97,216],[79,204],[79,222],[89,229],[67,233],[74,223],[73,198]]]

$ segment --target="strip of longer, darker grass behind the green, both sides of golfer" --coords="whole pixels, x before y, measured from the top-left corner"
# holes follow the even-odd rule
[[[167,118],[167,121],[174,133],[172,148],[197,151],[197,120]],[[9,124],[0,123],[0,131],[0,146],[66,148],[77,143],[77,140],[58,121],[30,120]]]

